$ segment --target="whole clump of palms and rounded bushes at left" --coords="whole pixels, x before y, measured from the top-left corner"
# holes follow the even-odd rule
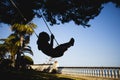
[[[33,23],[14,24],[11,26],[12,34],[6,39],[0,39],[0,68],[7,69],[14,67],[16,69],[27,68],[33,64],[31,57],[25,55],[30,53],[33,55],[31,47],[28,46],[30,35],[34,33],[37,26]]]

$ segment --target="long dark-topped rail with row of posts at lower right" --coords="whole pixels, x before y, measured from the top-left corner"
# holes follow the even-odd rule
[[[120,67],[59,67],[63,74],[76,74],[120,79]]]

